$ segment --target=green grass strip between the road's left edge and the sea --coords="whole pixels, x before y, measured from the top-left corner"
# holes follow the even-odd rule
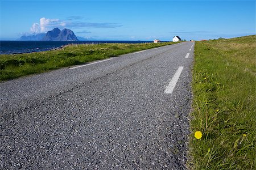
[[[176,43],[68,45],[61,50],[1,55],[0,81]]]

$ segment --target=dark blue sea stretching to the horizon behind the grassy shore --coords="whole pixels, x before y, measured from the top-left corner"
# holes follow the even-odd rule
[[[0,41],[0,54],[42,52],[68,44],[146,43],[152,41]]]

